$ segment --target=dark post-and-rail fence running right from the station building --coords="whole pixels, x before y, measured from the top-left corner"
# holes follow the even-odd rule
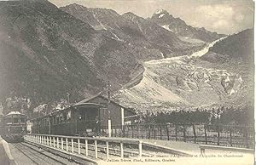
[[[113,137],[163,139],[206,145],[254,147],[254,127],[216,124],[134,124],[112,126]]]

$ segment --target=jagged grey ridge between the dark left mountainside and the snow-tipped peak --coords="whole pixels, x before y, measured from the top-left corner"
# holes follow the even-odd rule
[[[95,30],[104,31],[109,37],[137,47],[142,52],[138,55],[143,56],[143,59],[152,60],[155,54],[161,54],[162,58],[188,54],[202,45],[183,42],[172,31],[166,31],[154,22],[131,12],[119,15],[112,9],[91,9],[79,4],[71,4],[61,9],[89,23]]]

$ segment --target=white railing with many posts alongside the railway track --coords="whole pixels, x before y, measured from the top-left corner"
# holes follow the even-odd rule
[[[123,158],[131,154],[139,157],[143,156],[143,141],[139,139],[108,139],[108,138],[90,138],[76,136],[61,136],[49,134],[28,134],[25,139],[35,144],[46,145],[61,151],[75,153],[79,156],[90,156],[98,158],[98,153],[102,158],[109,159],[110,155]],[[137,151],[125,151],[125,146],[137,145]],[[112,147],[112,148],[111,148]],[[127,147],[127,149],[130,147]],[[82,152],[84,150],[84,152]],[[91,153],[94,152],[94,154]],[[110,153],[110,151],[114,153]],[[119,151],[119,154],[116,152]],[[126,154],[126,155],[125,155]]]

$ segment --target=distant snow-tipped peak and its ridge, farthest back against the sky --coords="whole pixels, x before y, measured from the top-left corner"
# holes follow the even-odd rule
[[[174,18],[172,14],[169,14],[165,9],[157,10],[150,20],[166,28],[166,30],[174,32],[185,41],[210,43],[225,36],[216,32],[207,31],[203,27],[195,28],[188,26],[185,21],[180,18]],[[193,40],[191,40],[191,38]]]

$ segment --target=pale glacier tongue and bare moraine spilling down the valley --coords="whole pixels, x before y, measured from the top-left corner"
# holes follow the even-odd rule
[[[116,100],[138,111],[191,110],[252,104],[253,82],[247,70],[238,71],[221,63],[201,60],[208,50],[230,38],[222,38],[188,56],[151,60],[143,63],[143,79],[134,87],[123,88]],[[213,45],[213,48],[212,48]],[[239,47],[238,47],[239,48]],[[233,68],[237,67],[236,64]],[[238,68],[241,69],[239,65]],[[250,76],[249,76],[250,77]]]

